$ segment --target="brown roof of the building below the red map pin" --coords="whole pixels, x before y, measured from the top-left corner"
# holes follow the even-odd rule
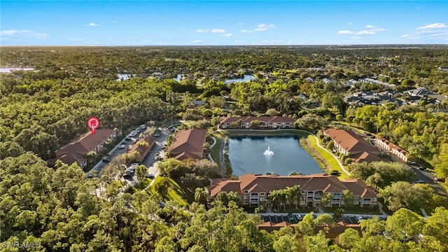
[[[60,157],[66,153],[81,153],[86,154],[90,151],[93,151],[95,147],[101,144],[106,139],[109,139],[111,135],[115,132],[115,130],[111,129],[100,129],[96,130],[95,134],[92,132],[87,132],[85,134],[80,135],[76,139],[73,139],[69,144],[62,146],[61,148],[55,151],[56,156]]]

